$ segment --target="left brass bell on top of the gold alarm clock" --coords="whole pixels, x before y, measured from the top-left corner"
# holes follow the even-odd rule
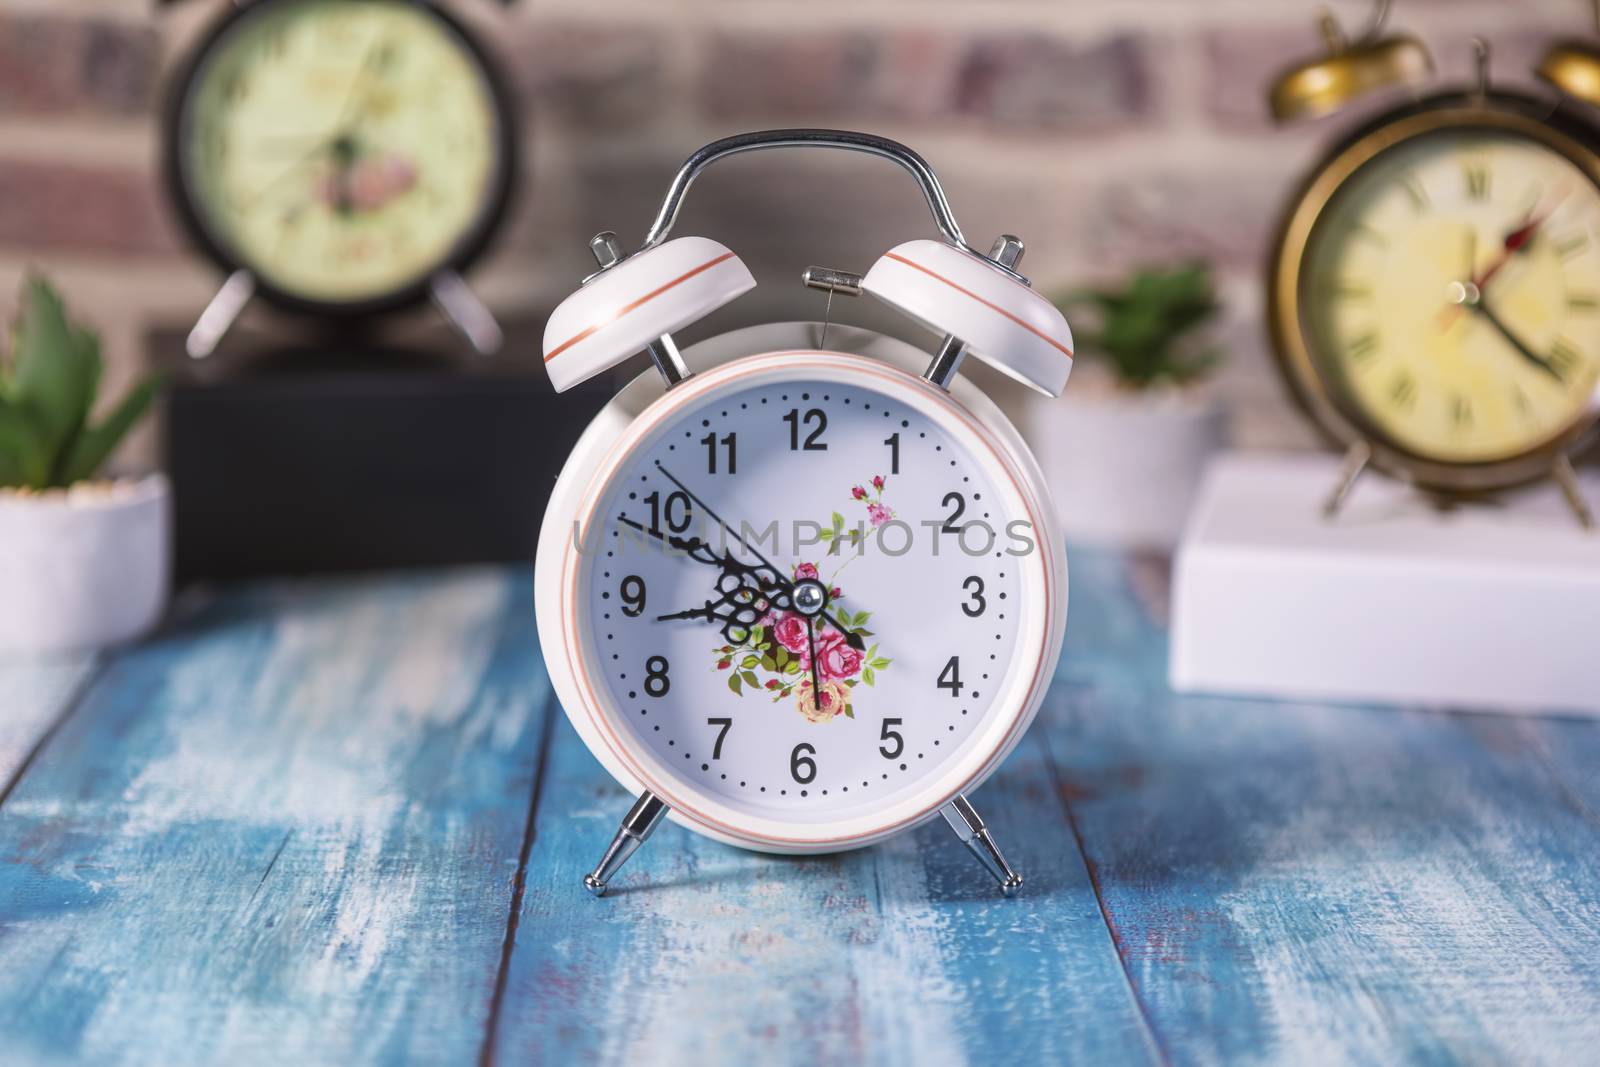
[[[1390,0],[1378,0],[1371,22],[1354,40],[1325,10],[1318,26],[1328,53],[1294,64],[1272,82],[1272,117],[1283,123],[1331,115],[1370,93],[1432,77],[1434,58],[1422,42],[1410,34],[1384,35],[1389,6]]]

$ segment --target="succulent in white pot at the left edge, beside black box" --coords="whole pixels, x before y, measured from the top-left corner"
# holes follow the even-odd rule
[[[102,419],[99,339],[67,318],[42,278],[22,286],[0,358],[0,649],[115,645],[166,606],[166,478],[101,478],[101,466],[150,406],[134,386]]]

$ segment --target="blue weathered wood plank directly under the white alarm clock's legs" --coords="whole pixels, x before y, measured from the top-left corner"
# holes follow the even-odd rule
[[[942,825],[770,857],[662,825],[605,901],[579,878],[629,798],[562,721],[498,1032],[502,1062],[1154,1062],[1042,750],[976,803],[1002,899]]]

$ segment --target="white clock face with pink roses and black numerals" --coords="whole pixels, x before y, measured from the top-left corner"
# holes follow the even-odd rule
[[[1019,713],[1037,531],[987,446],[896,390],[741,381],[598,496],[574,592],[589,681],[675,795],[776,821],[891,806]]]

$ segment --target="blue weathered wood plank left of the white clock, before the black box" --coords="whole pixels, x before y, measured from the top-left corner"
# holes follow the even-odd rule
[[[530,587],[256,587],[117,657],[0,811],[5,1057],[477,1056],[549,710]]]

